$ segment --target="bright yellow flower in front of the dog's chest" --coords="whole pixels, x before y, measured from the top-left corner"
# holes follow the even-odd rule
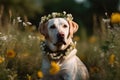
[[[51,62],[51,67],[50,67],[49,73],[50,73],[51,75],[55,75],[55,74],[57,74],[59,71],[60,71],[60,66],[59,66],[56,62],[52,61],[52,62]]]

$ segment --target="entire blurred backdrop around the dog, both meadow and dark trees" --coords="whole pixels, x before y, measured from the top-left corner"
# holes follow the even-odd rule
[[[0,80],[40,80],[41,17],[71,13],[90,80],[120,80],[120,0],[0,0]],[[55,68],[56,69],[56,68]]]

